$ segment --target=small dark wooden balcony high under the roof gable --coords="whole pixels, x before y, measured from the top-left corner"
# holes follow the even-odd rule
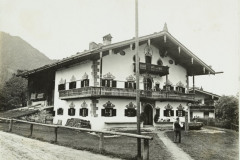
[[[134,72],[135,72],[135,63],[134,65]],[[169,67],[168,66],[160,66],[160,65],[154,65],[154,64],[148,64],[148,63],[139,63],[139,72],[140,74],[142,73],[149,73],[149,74],[154,74],[154,75],[160,75],[160,76],[165,76],[168,75]]]

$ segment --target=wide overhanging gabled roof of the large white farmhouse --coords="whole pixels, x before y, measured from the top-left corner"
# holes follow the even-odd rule
[[[164,55],[166,53],[165,56],[170,56],[176,64],[184,66],[187,69],[187,74],[189,76],[216,74],[216,72],[210,66],[205,64],[189,49],[182,45],[167,30],[139,37],[140,45],[147,43],[148,41],[151,42],[151,45],[154,45],[159,49],[160,55]],[[100,52],[103,53],[103,56],[109,54],[110,50],[112,50],[114,53],[117,53],[134,44],[135,38],[105,46],[101,45],[96,49],[77,53],[75,55],[72,55],[71,57],[64,58],[52,64],[48,64],[37,69],[23,72],[19,74],[19,76],[28,77],[32,74],[48,70],[56,71],[59,68],[67,67],[76,63],[80,63],[82,61],[99,59]]]

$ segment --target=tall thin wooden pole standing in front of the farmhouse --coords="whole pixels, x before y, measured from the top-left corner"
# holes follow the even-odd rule
[[[135,0],[135,60],[136,60],[136,103],[137,103],[137,134],[141,134],[140,129],[140,90],[139,90],[139,39],[138,39],[138,0]],[[137,157],[141,159],[141,139],[137,139]]]

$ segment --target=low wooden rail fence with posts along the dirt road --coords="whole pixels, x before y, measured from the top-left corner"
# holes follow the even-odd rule
[[[0,120],[9,121],[9,128],[8,128],[9,132],[12,132],[13,122],[22,122],[22,123],[30,124],[30,135],[29,135],[30,137],[33,134],[33,125],[52,127],[52,128],[54,128],[54,134],[55,134],[54,142],[57,142],[58,128],[66,128],[66,129],[71,129],[71,130],[76,130],[76,131],[99,133],[100,136],[99,136],[99,147],[98,148],[99,148],[100,153],[102,153],[104,150],[104,134],[127,136],[127,137],[131,137],[131,138],[137,138],[140,140],[143,139],[144,142],[143,142],[142,159],[149,160],[149,140],[153,139],[150,136],[143,136],[143,135],[130,134],[130,133],[121,133],[121,132],[112,132],[112,131],[99,131],[99,130],[92,130],[92,129],[87,129],[87,128],[76,128],[76,127],[69,127],[69,126],[43,124],[43,123],[36,123],[36,122],[29,122],[29,121],[23,121],[23,120],[18,120],[18,119],[9,119],[9,118],[1,118],[1,117],[0,117]]]

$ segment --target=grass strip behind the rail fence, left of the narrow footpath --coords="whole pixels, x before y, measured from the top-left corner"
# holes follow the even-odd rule
[[[0,130],[7,131],[8,124],[0,123]],[[14,123],[12,132],[18,135],[28,136],[30,134],[30,125],[24,123]],[[153,140],[150,141],[150,159],[171,160],[171,154],[167,152],[163,142],[157,137],[157,135],[154,133],[147,133],[146,135],[153,137]],[[32,138],[53,143],[55,138],[54,129],[34,125]],[[59,128],[57,144],[99,153],[99,137],[85,132],[76,132],[69,129]],[[137,139],[125,136],[104,138],[104,150],[103,154],[108,156],[122,159],[136,159]]]

